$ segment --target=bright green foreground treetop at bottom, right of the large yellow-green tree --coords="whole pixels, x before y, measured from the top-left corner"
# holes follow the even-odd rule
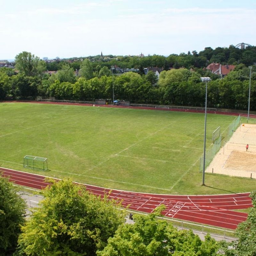
[[[157,220],[164,206],[149,215],[135,215],[134,224],[120,225],[114,237],[108,239],[98,256],[196,256],[218,255],[219,244],[210,236],[201,241],[190,230],[178,231],[171,223]]]

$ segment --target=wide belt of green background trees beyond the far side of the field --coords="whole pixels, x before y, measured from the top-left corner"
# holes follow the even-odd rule
[[[105,63],[103,65],[99,64],[101,62],[97,62],[97,59],[86,58],[79,62],[80,65],[76,71],[71,66],[72,63],[65,61],[60,69],[51,75],[46,71],[48,64],[45,61],[40,60],[30,52],[21,52],[15,59],[17,73],[9,68],[0,69],[0,100],[35,99],[37,96],[41,96],[43,98],[54,97],[57,100],[94,101],[95,99],[107,99],[111,101],[113,100],[114,89],[115,100],[129,100],[131,103],[141,104],[204,107],[205,84],[201,82],[200,77],[209,76],[212,81],[208,83],[207,107],[246,109],[251,78],[250,108],[256,110],[256,66],[252,65],[251,72],[250,68],[247,67],[247,64],[251,65],[252,62],[256,62],[256,59],[251,58],[251,62],[246,62],[243,59],[246,52],[246,56],[254,56],[254,50],[255,47],[241,50],[230,46],[215,50],[205,48],[199,54],[193,51],[192,54],[185,54],[184,56],[129,57],[127,63],[133,61],[132,67],[139,67],[139,72],[123,74],[116,73],[116,69],[113,68],[116,66],[111,65],[112,68],[109,68],[109,64],[118,62],[116,59],[102,62]],[[175,66],[174,60],[173,65],[168,62],[168,65],[173,68],[162,71],[159,79],[152,71],[146,75],[143,73],[143,68],[149,66],[147,64],[163,66],[166,64],[165,61],[171,60],[172,57],[183,58],[183,60],[192,57],[204,57],[206,58],[205,63],[207,63],[208,59],[213,60],[212,58],[222,56],[224,52],[226,52],[226,59],[236,56],[234,59],[237,63],[239,60],[244,60],[246,64],[237,64],[236,68],[222,79],[201,66],[201,68],[195,68],[195,66],[193,69],[188,68],[191,67],[191,63],[182,65],[182,68],[180,65]],[[150,61],[147,63],[146,60]],[[124,64],[125,62],[123,60],[120,63]]]

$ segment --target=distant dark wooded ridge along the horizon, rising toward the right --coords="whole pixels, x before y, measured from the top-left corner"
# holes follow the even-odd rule
[[[46,68],[49,71],[60,70],[64,63],[74,70],[78,70],[84,58],[70,58],[65,60],[57,60],[47,62]],[[88,60],[92,62],[93,69],[99,69],[107,66],[118,66],[120,68],[140,68],[140,67],[159,67],[168,70],[169,68],[205,68],[209,63],[215,62],[222,65],[238,65],[244,64],[251,66],[256,62],[256,46],[248,46],[244,49],[236,48],[234,45],[227,47],[211,47],[204,48],[203,51],[188,51],[180,54],[170,54],[169,56],[152,55],[152,56],[113,56],[113,55],[96,55],[88,56]]]

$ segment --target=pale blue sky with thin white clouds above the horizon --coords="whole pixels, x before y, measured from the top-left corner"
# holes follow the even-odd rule
[[[255,0],[0,0],[0,60],[256,45]]]

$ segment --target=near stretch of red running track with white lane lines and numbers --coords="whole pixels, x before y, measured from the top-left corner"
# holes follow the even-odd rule
[[[50,185],[45,182],[45,176],[20,172],[6,168],[0,168],[2,176],[17,185],[28,188],[42,189]],[[221,228],[236,229],[240,222],[247,218],[247,213],[232,211],[252,207],[250,193],[208,195],[208,196],[173,196],[161,194],[146,194],[100,188],[84,184],[90,192],[103,196],[109,193],[109,197],[122,201],[122,205],[129,206],[130,210],[151,213],[154,209],[164,204],[166,209],[163,215],[186,221],[212,225]]]

